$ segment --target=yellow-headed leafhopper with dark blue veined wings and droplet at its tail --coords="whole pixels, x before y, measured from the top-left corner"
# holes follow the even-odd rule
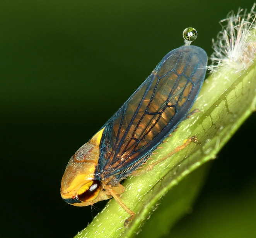
[[[194,28],[186,28],[185,45],[164,56],[123,106],[71,157],[61,181],[64,201],[88,206],[113,197],[131,215],[126,221],[133,219],[135,213],[119,197],[125,191],[120,181],[136,173],[195,102],[207,66],[205,51],[190,45],[196,36]]]

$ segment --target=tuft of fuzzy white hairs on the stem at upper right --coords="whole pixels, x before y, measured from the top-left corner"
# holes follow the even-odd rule
[[[255,3],[249,13],[240,9],[235,15],[230,12],[227,18],[220,21],[222,30],[213,39],[214,53],[211,55],[212,65],[208,69],[212,73],[225,73],[231,70],[242,74],[256,58],[256,12]]]

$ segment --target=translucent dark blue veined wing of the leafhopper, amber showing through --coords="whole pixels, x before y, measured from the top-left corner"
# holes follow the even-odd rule
[[[188,114],[205,78],[207,54],[196,46],[169,52],[104,125],[99,174],[121,179],[136,169]]]

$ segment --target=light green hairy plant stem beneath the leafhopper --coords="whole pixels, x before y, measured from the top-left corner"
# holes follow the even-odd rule
[[[142,228],[143,223],[159,203],[169,189],[174,186],[183,186],[180,183],[189,173],[202,164],[214,159],[216,154],[236,132],[246,118],[255,111],[256,104],[256,62],[247,69],[240,77],[239,75],[225,71],[225,74],[210,75],[203,85],[193,109],[199,109],[189,119],[183,121],[176,132],[157,149],[151,161],[161,158],[189,136],[196,135],[197,143],[191,143],[188,147],[179,151],[163,163],[155,166],[152,171],[138,177],[130,177],[125,183],[125,193],[122,201],[137,214],[129,227],[124,228],[124,221],[129,215],[111,199],[106,207],[94,218],[87,228],[79,232],[76,238],[101,238],[101,237],[133,237]],[[204,178],[205,172],[200,173]],[[195,186],[193,193],[186,194],[186,208],[191,206],[196,191],[202,184],[202,179],[191,179],[190,186]],[[189,183],[186,183],[189,187]],[[185,188],[185,187],[184,187]],[[181,187],[182,190],[182,187]],[[177,196],[177,199],[181,199]],[[174,198],[175,200],[175,198]],[[172,200],[172,203],[177,200]],[[188,209],[184,204],[180,211],[170,213],[170,220],[176,221]],[[154,229],[152,227],[152,229]]]

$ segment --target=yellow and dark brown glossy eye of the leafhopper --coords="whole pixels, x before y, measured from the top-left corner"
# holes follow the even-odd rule
[[[84,184],[78,192],[77,198],[81,202],[89,202],[97,198],[101,191],[101,182],[99,180],[92,180],[89,183]]]

